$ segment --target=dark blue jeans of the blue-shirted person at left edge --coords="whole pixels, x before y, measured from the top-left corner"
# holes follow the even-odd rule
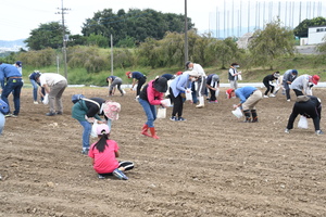
[[[8,102],[8,95],[13,91],[13,101],[14,101],[14,106],[15,106],[15,111],[13,112],[14,115],[20,114],[21,90],[22,90],[23,85],[24,84],[23,84],[22,78],[9,78],[2,90],[1,99],[8,104],[9,113],[10,113],[10,105]]]

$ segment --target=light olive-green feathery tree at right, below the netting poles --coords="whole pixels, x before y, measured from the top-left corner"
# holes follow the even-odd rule
[[[249,42],[252,63],[258,66],[268,65],[273,69],[274,61],[284,54],[293,54],[293,31],[280,26],[280,21],[266,24],[264,30],[255,30]]]

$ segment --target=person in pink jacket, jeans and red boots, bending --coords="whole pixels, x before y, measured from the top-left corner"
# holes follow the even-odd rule
[[[167,90],[167,80],[165,77],[158,77],[154,80],[149,81],[140,91],[138,102],[141,104],[143,112],[147,116],[147,122],[143,124],[141,135],[160,139],[155,132],[154,120],[156,119],[156,107],[161,105],[165,107],[163,103],[164,92]],[[148,133],[150,130],[151,135]]]

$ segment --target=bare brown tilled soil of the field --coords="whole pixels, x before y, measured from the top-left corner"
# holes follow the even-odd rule
[[[106,88],[67,88],[54,117],[24,88],[22,112],[0,138],[0,216],[326,216],[326,135],[315,136],[312,120],[284,133],[293,102],[281,94],[258,104],[260,123],[241,123],[224,91],[204,108],[187,102],[185,123],[158,119],[160,140],[140,135],[135,93],[112,97],[122,112],[111,139],[136,165],[121,181],[97,178],[71,117],[73,93],[108,99]],[[326,102],[325,89],[314,93]]]

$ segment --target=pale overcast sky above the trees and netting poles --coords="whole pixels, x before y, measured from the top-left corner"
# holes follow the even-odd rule
[[[273,2],[273,7],[271,7],[271,2]],[[187,16],[191,18],[195,27],[201,34],[213,31],[213,35],[215,34],[217,37],[223,34],[242,35],[243,29],[240,30],[240,27],[246,31],[249,25],[263,26],[264,22],[275,17],[278,2],[283,2],[280,13],[288,25],[298,25],[300,2],[303,2],[301,20],[318,14],[326,17],[326,14],[323,14],[326,13],[326,3],[303,0],[286,2],[279,0],[187,0]],[[291,2],[294,3],[291,4]],[[87,18],[92,18],[96,12],[104,9],[112,9],[114,13],[121,9],[126,12],[129,9],[153,9],[162,13],[185,14],[185,0],[0,0],[0,40],[26,39],[30,31],[38,28],[40,24],[61,23],[62,15],[57,13],[61,12],[62,8],[68,9],[65,11],[64,20],[73,35],[82,35],[83,23]],[[271,12],[267,10],[268,7]],[[285,11],[286,9],[288,10]],[[256,13],[253,13],[254,11]],[[225,29],[230,28],[239,30],[238,33],[231,33],[231,30],[226,33]],[[216,29],[224,30],[217,33]]]

